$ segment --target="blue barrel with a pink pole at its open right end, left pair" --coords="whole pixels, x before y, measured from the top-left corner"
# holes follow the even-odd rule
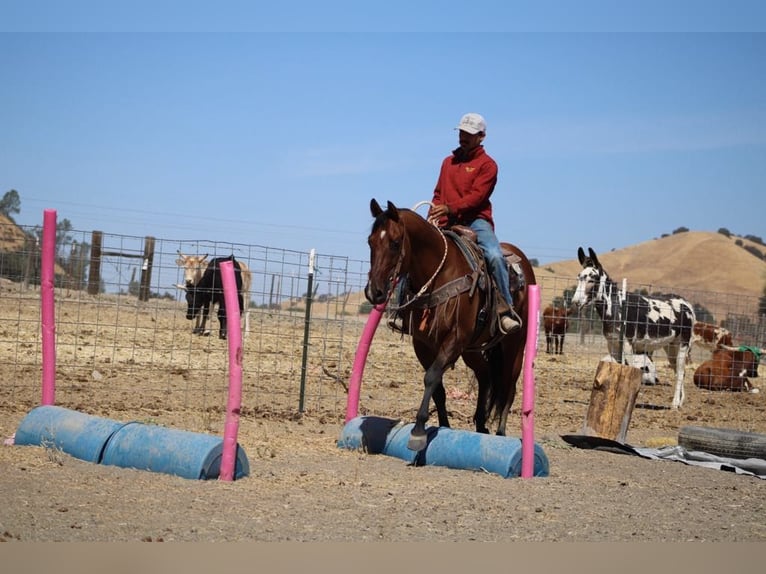
[[[174,474],[183,478],[218,478],[223,456],[223,439],[131,423],[115,432],[104,448],[102,464]],[[234,478],[250,473],[245,451],[237,445]]]

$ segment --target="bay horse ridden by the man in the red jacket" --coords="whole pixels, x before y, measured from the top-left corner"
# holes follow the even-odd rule
[[[397,283],[405,287],[407,300],[396,310],[425,370],[423,397],[407,448],[419,452],[426,447],[425,425],[432,399],[439,426],[449,427],[443,376],[461,357],[478,382],[473,416],[476,432],[489,433],[487,421],[497,419],[497,434],[505,435],[527,330],[499,333],[496,288],[478,246],[390,201],[383,210],[372,199],[370,212],[375,221],[367,239],[370,271],[365,297],[379,305],[389,301]],[[461,245],[465,244],[472,251],[464,251]],[[532,265],[518,247],[501,243],[501,248],[506,261],[512,262],[509,276],[514,308],[526,318],[527,285],[536,281]]]

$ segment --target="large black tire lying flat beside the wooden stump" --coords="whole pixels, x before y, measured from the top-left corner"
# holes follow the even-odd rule
[[[681,427],[678,444],[686,450],[701,450],[726,458],[766,460],[766,435],[733,429]]]

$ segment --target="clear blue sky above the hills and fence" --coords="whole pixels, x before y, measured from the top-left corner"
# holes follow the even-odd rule
[[[766,237],[758,2],[143,4],[0,0],[18,223],[366,259],[370,199],[430,199],[475,111],[498,235],[541,263]]]

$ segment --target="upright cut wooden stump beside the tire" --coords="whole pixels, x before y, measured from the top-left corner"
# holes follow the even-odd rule
[[[640,386],[640,369],[600,361],[583,434],[624,443]]]

